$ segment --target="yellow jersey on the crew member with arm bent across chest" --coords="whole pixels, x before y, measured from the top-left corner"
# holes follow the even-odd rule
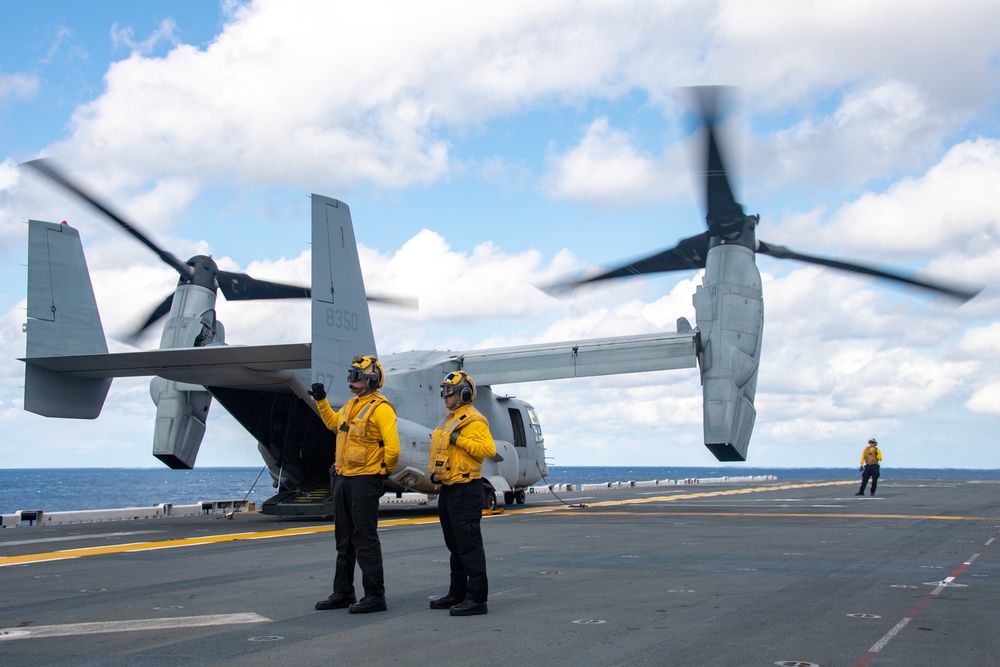
[[[451,442],[451,434],[458,439]],[[483,459],[496,456],[497,448],[486,417],[472,404],[458,406],[445,415],[431,434],[428,470],[435,484],[462,484],[482,477]]]

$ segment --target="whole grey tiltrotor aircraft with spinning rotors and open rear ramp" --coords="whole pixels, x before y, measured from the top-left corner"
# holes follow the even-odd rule
[[[684,318],[676,331],[467,352],[415,351],[379,358],[382,389],[395,405],[401,443],[390,491],[433,494],[427,470],[430,434],[443,415],[439,385],[464,370],[477,383],[475,405],[490,422],[498,455],[484,461],[484,505],[497,494],[525,501],[525,489],[548,474],[544,439],[532,406],[495,393],[495,385],[559,378],[693,368],[703,393],[705,446],[720,461],[744,461],[753,431],[754,396],[763,333],[763,298],[755,255],[798,259],[900,281],[967,300],[978,290],[921,280],[899,272],[795,253],[756,239],[759,216],[736,203],[716,140],[716,89],[698,89],[707,140],[707,231],[620,268],[566,282],[573,289],[610,278],[705,269],[694,295],[697,326]],[[215,399],[257,441],[277,493],[264,513],[332,513],[329,467],[334,434],[320,420],[307,390],[328,388],[331,405],[349,397],[353,357],[378,354],[350,210],[312,196],[312,287],[255,280],[218,269],[210,257],[181,262],[135,225],[90,195],[48,160],[26,163],[121,226],[180,274],[176,291],[143,328],[167,316],[160,349],[108,353],[78,232],[65,224],[29,221],[28,321],[24,409],[46,417],[94,419],[114,377],[153,376],[156,404],[153,455],[186,469],[205,435]],[[218,291],[228,299],[312,300],[311,343],[230,346],[215,317]]]

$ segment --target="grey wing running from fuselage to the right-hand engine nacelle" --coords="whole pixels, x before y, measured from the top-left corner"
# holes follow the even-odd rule
[[[694,368],[697,338],[688,329],[473,350],[461,364],[481,385]]]

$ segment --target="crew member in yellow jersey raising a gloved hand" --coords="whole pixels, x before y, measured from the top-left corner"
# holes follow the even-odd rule
[[[316,603],[316,609],[343,609],[352,614],[385,611],[382,545],[378,539],[378,501],[385,493],[385,479],[399,461],[396,410],[379,393],[385,373],[373,356],[355,357],[347,373],[354,397],[340,411],[330,407],[322,383],[312,386],[323,423],[337,431],[334,456],[333,520],[337,543],[337,569],[333,595]],[[354,564],[361,567],[365,596],[354,595]]]

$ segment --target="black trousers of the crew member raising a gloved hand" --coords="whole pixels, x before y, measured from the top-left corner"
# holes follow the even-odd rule
[[[365,595],[385,595],[382,544],[378,540],[378,499],[384,491],[381,475],[337,475],[333,481],[333,536],[337,542],[334,593],[354,593],[357,563]]]

